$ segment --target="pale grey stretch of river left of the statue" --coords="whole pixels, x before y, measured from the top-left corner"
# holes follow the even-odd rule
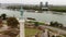
[[[15,16],[15,17],[20,17],[20,12],[19,11],[12,11],[12,10],[8,10],[8,9],[0,9],[0,15],[1,14],[7,14],[7,16]]]

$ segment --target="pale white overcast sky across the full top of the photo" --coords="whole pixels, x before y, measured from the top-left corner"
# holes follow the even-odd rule
[[[40,4],[40,2],[50,4],[63,4],[66,5],[66,0],[0,0],[1,3],[23,3],[23,4]]]

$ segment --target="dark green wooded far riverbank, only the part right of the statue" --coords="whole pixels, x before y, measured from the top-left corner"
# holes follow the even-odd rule
[[[55,11],[55,12],[66,12],[66,7],[48,7],[46,9],[40,9],[38,7],[23,7],[24,10],[35,10],[35,11]]]

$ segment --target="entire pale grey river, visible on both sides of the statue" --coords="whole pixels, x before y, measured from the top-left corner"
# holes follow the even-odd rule
[[[0,9],[0,15],[2,13],[6,13],[8,16],[15,16],[20,17],[20,12],[19,11],[12,11],[12,10],[7,10],[7,9]],[[53,22],[58,22],[64,24],[66,26],[66,13],[64,12],[53,12],[53,11],[43,11],[43,13],[35,13],[35,12],[28,12],[24,11],[23,17],[33,17],[36,18],[36,21],[50,23],[51,21]]]

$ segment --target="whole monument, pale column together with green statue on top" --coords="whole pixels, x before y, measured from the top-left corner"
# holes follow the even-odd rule
[[[24,20],[23,20],[23,9],[22,9],[22,7],[21,7],[21,10],[20,10],[20,15],[21,15],[21,17],[19,20],[19,22],[20,22],[20,37],[24,37]]]

